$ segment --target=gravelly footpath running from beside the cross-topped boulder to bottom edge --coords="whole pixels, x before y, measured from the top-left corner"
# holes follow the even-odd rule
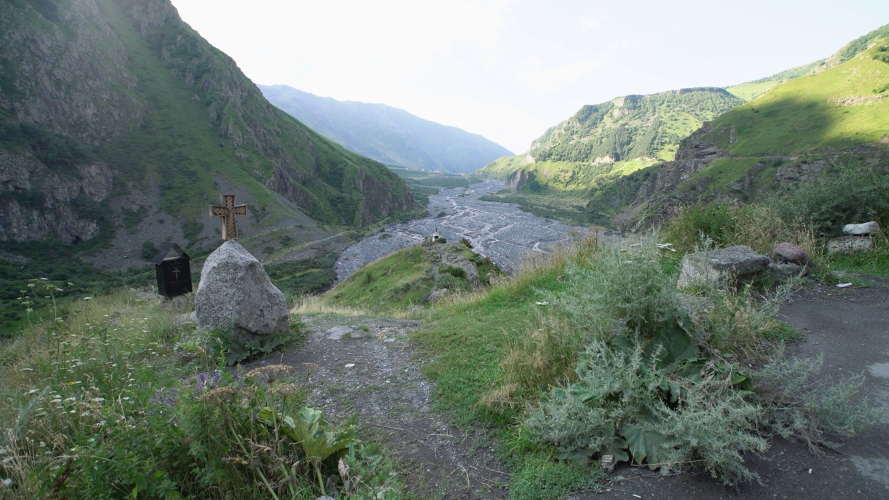
[[[418,322],[332,316],[303,321],[305,344],[252,366],[284,363],[308,371],[308,406],[323,409],[334,422],[355,415],[360,436],[384,440],[399,457],[402,479],[416,497],[507,496],[509,475],[494,456],[492,438],[482,430],[464,434],[431,411],[433,386],[420,374],[427,359],[406,338]]]

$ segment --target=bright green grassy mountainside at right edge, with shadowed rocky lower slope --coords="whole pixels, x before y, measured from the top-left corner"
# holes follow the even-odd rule
[[[889,38],[870,34],[837,53],[845,62],[774,85],[717,117],[680,144],[674,161],[605,186],[588,209],[626,222],[698,199],[755,199],[832,165],[885,168]]]

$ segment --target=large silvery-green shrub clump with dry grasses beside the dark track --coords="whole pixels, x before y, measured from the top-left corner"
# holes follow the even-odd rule
[[[782,368],[781,351],[763,372],[749,373],[746,359],[768,357],[765,333],[789,286],[765,302],[746,289],[709,291],[690,313],[653,241],[570,260],[565,292],[541,302],[549,304],[544,328],[514,341],[485,402],[515,406],[545,391],[523,426],[560,458],[613,455],[662,472],[694,467],[726,484],[757,480],[742,455],[764,452],[773,432],[829,445],[824,436],[874,422],[867,405],[852,404],[857,379],[794,383],[800,368]],[[781,392],[785,375],[790,389]],[[844,405],[851,415],[833,409]]]

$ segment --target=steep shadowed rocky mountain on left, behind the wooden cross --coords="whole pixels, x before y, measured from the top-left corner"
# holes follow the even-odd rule
[[[413,208],[395,173],[272,106],[169,0],[5,1],[0,43],[0,241],[108,243],[148,219],[214,239],[220,191],[258,227]]]

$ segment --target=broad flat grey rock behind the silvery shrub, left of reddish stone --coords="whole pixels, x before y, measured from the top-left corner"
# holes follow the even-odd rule
[[[742,245],[687,254],[682,259],[677,286],[720,285],[731,276],[752,276],[762,272],[770,263],[772,259]]]

